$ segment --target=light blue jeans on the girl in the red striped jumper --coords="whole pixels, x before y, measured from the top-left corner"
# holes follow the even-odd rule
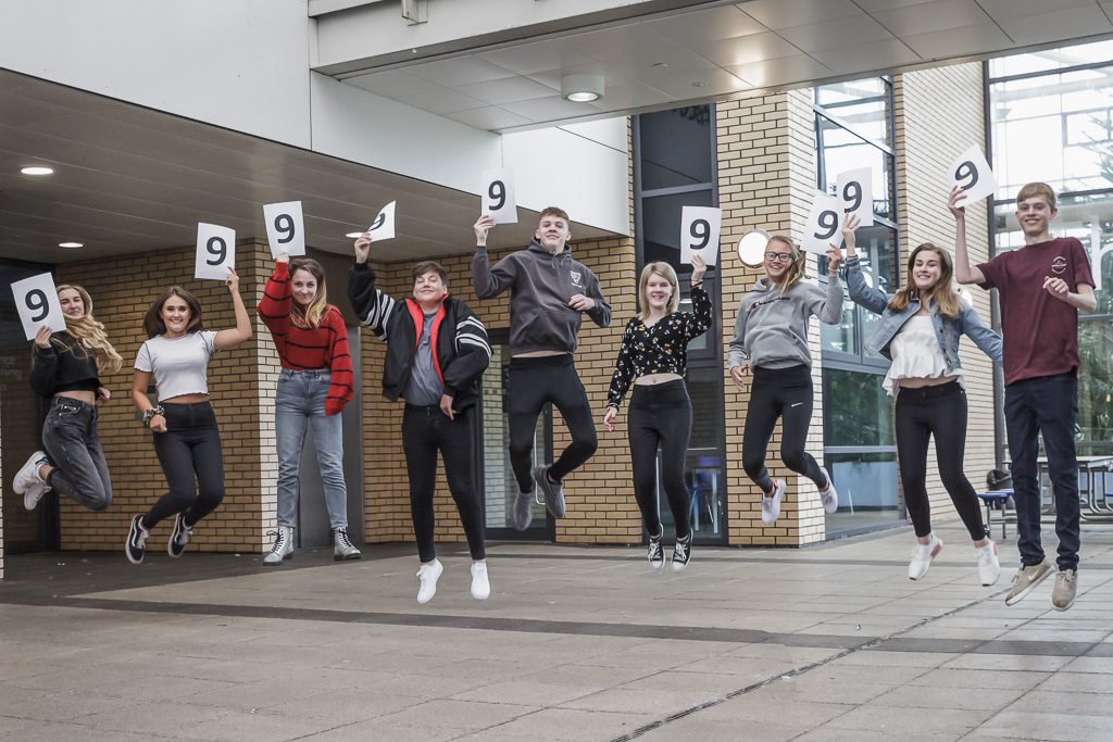
[[[339,415],[325,415],[325,397],[332,374],[327,368],[295,372],[282,369],[275,396],[275,433],[278,437],[278,525],[293,526],[297,518],[298,479],[305,431],[313,431],[317,464],[325,489],[325,506],[332,527],[347,527],[347,487],[344,484],[343,423]]]

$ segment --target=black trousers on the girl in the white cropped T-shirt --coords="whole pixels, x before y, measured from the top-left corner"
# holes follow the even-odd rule
[[[166,433],[152,435],[170,492],[142,516],[142,527],[148,531],[178,513],[184,514],[187,526],[193,526],[224,499],[224,454],[213,405],[198,402],[165,404],[162,408]]]

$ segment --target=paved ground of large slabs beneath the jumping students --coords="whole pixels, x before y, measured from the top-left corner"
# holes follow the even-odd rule
[[[1086,526],[1080,596],[1008,609],[945,527],[905,576],[907,530],[804,550],[500,544],[493,595],[442,554],[10,557],[0,738],[18,740],[1110,740],[1113,528]],[[1053,552],[1054,544],[1051,544]]]

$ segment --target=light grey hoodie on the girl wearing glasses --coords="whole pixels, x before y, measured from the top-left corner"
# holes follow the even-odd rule
[[[808,320],[811,315],[828,325],[843,316],[843,284],[837,274],[828,276],[826,290],[800,281],[784,294],[759,278],[738,306],[727,368],[740,366],[747,359],[751,367],[810,367]]]

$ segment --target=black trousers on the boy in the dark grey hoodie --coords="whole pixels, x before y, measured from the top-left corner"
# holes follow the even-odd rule
[[[591,417],[588,393],[575,373],[571,354],[536,358],[511,358],[506,380],[510,406],[510,465],[514,468],[520,492],[533,492],[533,432],[546,402],[560,410],[572,434],[572,443],[552,466],[552,478],[560,482],[583,466],[599,447],[595,422]]]

